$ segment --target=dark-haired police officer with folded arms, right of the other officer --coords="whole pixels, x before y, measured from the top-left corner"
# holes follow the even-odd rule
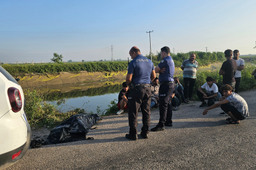
[[[151,128],[151,131],[157,132],[165,130],[165,126],[172,127],[172,93],[175,88],[173,74],[174,62],[170,56],[170,48],[161,48],[160,64],[156,66],[155,72],[159,72],[159,111],[160,120],[156,127]]]

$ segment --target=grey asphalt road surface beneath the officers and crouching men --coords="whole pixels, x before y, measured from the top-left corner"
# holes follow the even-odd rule
[[[195,101],[173,111],[173,127],[132,141],[125,139],[127,113],[107,116],[88,133],[95,140],[30,149],[8,169],[256,169],[255,94],[256,89],[240,93],[250,116],[238,125],[226,124],[220,108],[203,116]],[[150,128],[158,119],[153,110]],[[139,113],[138,133],[141,127]]]

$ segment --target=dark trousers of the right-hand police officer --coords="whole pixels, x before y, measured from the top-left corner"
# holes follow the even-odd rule
[[[161,84],[159,88],[159,111],[160,119],[158,127],[165,127],[165,123],[172,123],[172,93],[174,91],[174,83]]]

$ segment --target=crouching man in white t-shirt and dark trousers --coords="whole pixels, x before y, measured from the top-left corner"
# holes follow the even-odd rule
[[[199,107],[212,106],[218,99],[217,96],[219,89],[218,86],[213,83],[213,81],[214,79],[212,77],[207,77],[206,83],[198,89],[197,96],[199,97],[200,101],[202,101],[202,104]],[[206,89],[206,93],[204,93],[202,89]],[[208,102],[206,103],[204,99],[208,99]]]

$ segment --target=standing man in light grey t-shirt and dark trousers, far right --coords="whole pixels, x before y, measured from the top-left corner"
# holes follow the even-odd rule
[[[243,69],[245,69],[245,61],[243,59],[239,58],[239,50],[234,50],[234,57],[233,60],[236,61],[237,64],[237,70],[236,70],[236,75],[235,75],[235,81],[236,81],[236,85],[235,85],[235,93],[238,93],[238,89],[240,86],[240,82],[241,82],[241,71]]]

